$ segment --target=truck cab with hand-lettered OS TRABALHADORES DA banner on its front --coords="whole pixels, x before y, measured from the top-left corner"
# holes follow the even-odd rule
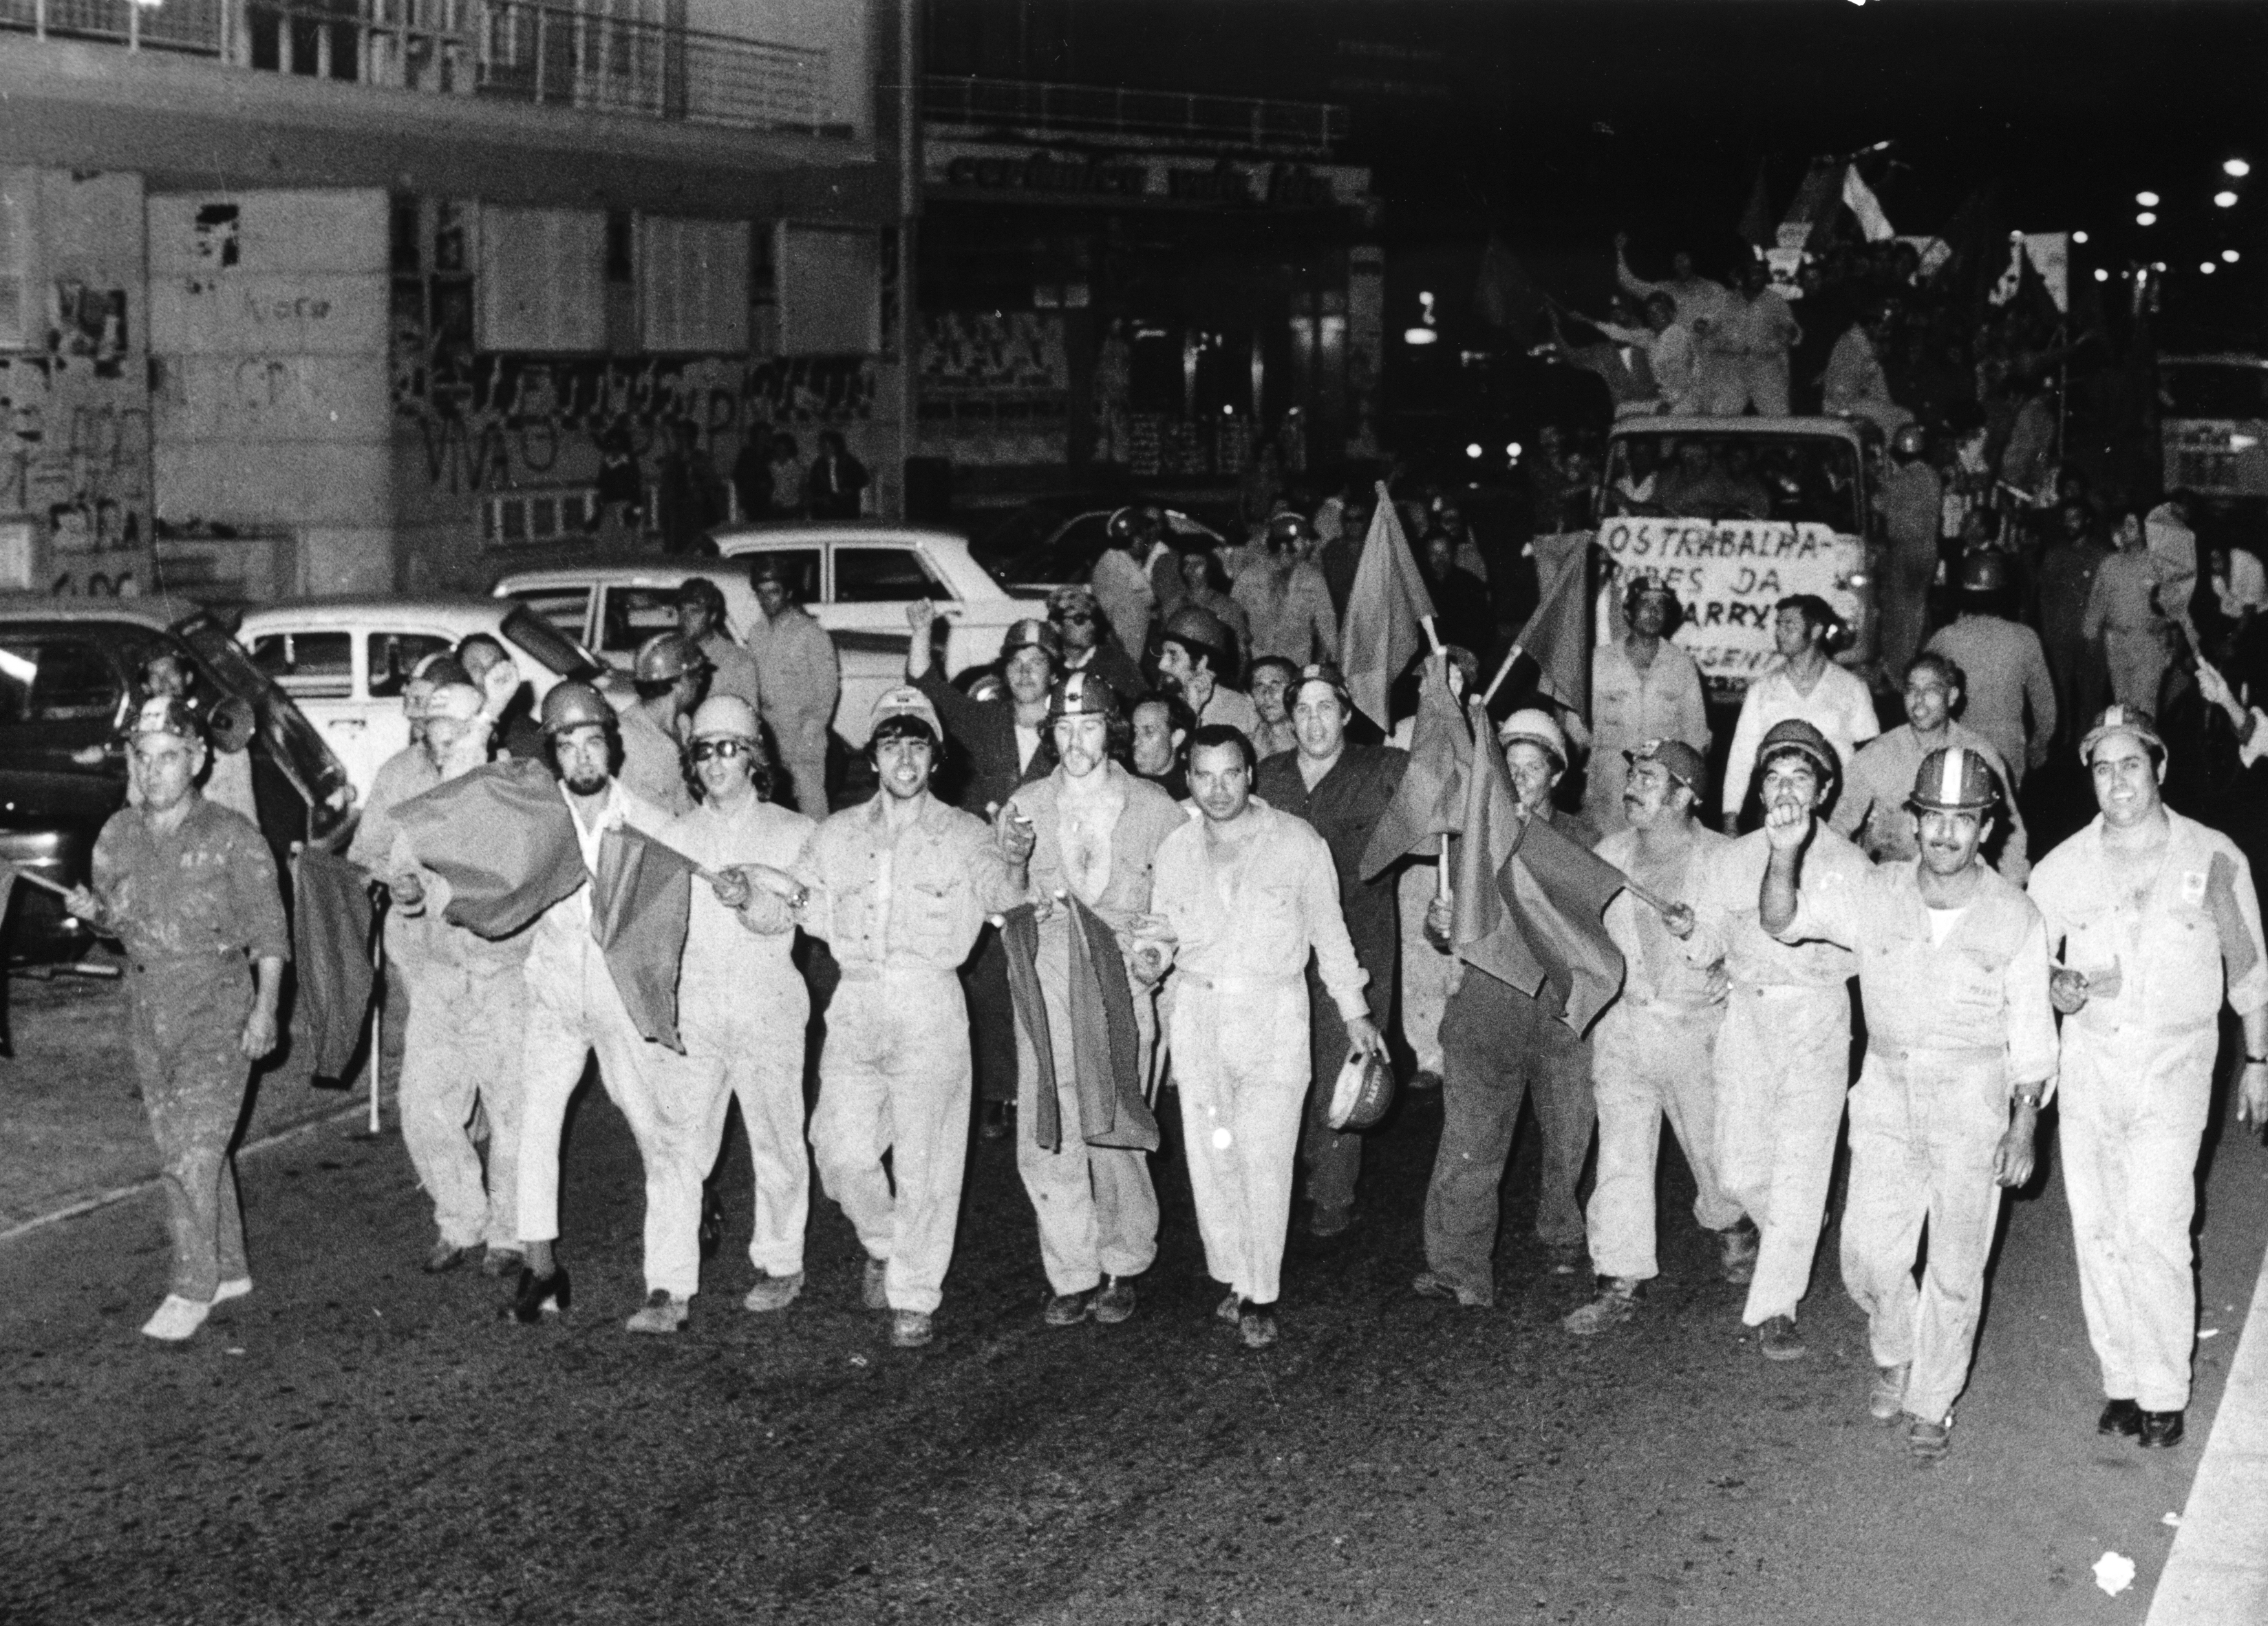
[[[1628,417],[1606,442],[1597,542],[1608,578],[1599,637],[1622,585],[1651,574],[1685,601],[1676,642],[1712,701],[1740,701],[1771,669],[1771,605],[1819,594],[1851,626],[1844,667],[1876,658],[1882,431],[1848,417]]]

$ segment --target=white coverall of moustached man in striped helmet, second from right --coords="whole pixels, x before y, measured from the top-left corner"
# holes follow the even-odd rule
[[[2048,934],[2039,909],[1978,862],[1978,889],[1939,943],[1919,864],[1812,875],[1783,939],[1857,955],[1867,1061],[1851,1091],[1842,1272],[1878,1367],[1910,1365],[1905,1413],[1937,1422],[1969,1383],[1984,1261],[2000,1222],[1994,1154],[2009,1095],[2055,1082]],[[1930,1261],[1914,1286],[1921,1227]]]

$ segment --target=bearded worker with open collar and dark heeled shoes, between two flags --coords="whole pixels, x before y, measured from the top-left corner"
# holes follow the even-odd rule
[[[574,816],[585,875],[596,878],[608,830],[628,825],[662,839],[669,814],[621,782],[621,726],[599,689],[572,678],[553,685],[544,694],[542,726],[560,798]],[[667,1222],[678,1206],[669,1191],[676,1159],[667,1154],[655,1091],[660,1059],[669,1052],[640,1034],[624,1009],[615,975],[592,937],[592,903],[594,887],[585,880],[528,928],[528,1025],[519,1064],[519,1243],[526,1265],[519,1270],[510,1315],[538,1322],[565,1311],[569,1302],[567,1270],[556,1252],[560,1129],[567,1102],[583,1082],[583,1066],[596,1055],[599,1082],[628,1118],[646,1168],[646,1309],[631,1318],[631,1329],[655,1331],[655,1322],[685,1320],[685,1302],[701,1286],[701,1250],[692,1234],[680,1238]],[[701,1177],[692,1179],[699,1202]]]

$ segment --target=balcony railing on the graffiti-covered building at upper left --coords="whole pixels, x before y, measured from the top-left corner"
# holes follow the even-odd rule
[[[828,129],[828,54],[669,23],[667,0],[0,0],[0,29],[236,68],[728,129]],[[669,7],[674,9],[674,7]]]

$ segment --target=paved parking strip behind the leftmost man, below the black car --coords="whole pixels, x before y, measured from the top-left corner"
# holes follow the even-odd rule
[[[11,977],[0,1061],[0,1234],[134,1188],[159,1172],[141,1102],[129,1093],[122,982]],[[342,1113],[367,1093],[313,1089],[286,1059],[254,1084],[240,1145]]]

